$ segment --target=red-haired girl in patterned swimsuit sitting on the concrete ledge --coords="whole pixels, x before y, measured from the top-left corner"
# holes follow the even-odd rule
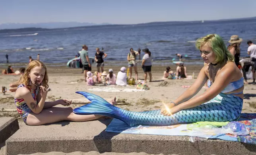
[[[60,99],[54,102],[45,102],[47,88],[48,75],[45,64],[38,60],[31,61],[14,95],[17,112],[25,124],[44,125],[59,121],[80,122],[102,117],[100,115],[76,115],[71,107],[53,107],[58,104],[69,106],[72,100]],[[115,104],[114,100],[111,101],[111,104]]]

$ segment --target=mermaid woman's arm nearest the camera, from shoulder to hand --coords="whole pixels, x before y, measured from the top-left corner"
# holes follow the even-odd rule
[[[227,66],[226,68],[223,68],[223,70],[215,77],[214,83],[209,89],[207,89],[204,94],[195,96],[194,98],[175,106],[173,113],[176,113],[182,109],[199,106],[200,104],[203,104],[213,99],[215,96],[221,93],[221,91],[225,87],[227,87],[227,85],[232,81],[232,75],[235,73],[235,70],[236,68],[234,66],[231,66],[231,64],[229,64],[229,66]]]

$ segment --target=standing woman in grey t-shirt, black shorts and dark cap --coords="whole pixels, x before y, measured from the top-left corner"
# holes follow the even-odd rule
[[[152,55],[148,48],[143,49],[145,55],[142,58],[142,68],[144,71],[144,82],[147,82],[147,73],[149,74],[149,82],[152,81],[151,67],[152,67]]]

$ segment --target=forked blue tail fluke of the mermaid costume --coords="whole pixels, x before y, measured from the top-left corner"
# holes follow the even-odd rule
[[[74,113],[79,114],[79,115],[91,115],[91,114],[96,114],[96,115],[105,115],[105,116],[110,116],[114,117],[116,119],[120,119],[121,121],[124,121],[124,117],[122,117],[121,113],[122,109],[113,106],[100,96],[94,95],[92,93],[87,93],[83,91],[78,91],[76,92],[78,94],[81,94],[85,96],[89,101],[91,101],[90,104],[86,104],[84,106],[81,106],[79,108],[75,108],[73,110]]]

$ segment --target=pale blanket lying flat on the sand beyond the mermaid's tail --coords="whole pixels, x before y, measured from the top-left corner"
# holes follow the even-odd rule
[[[113,87],[97,87],[89,89],[89,91],[106,91],[106,92],[140,92],[145,91],[144,89],[136,88],[113,88]]]

